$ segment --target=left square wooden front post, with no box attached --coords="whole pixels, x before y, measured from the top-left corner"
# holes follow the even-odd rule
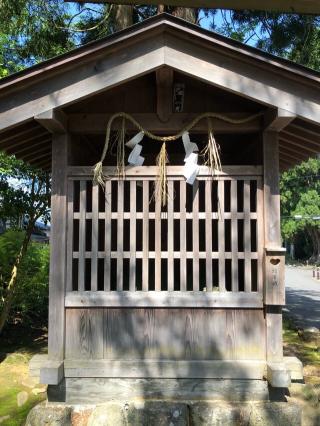
[[[51,255],[48,358],[64,359],[67,234],[67,133],[52,137]]]

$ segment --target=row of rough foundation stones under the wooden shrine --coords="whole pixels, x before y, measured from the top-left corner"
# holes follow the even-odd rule
[[[96,406],[41,403],[26,426],[300,426],[301,409],[288,402],[108,402]]]

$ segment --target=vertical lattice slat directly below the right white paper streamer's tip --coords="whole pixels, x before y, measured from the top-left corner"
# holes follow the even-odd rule
[[[193,291],[199,291],[199,181],[192,187]]]

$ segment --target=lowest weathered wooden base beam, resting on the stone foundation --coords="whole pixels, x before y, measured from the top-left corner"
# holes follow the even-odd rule
[[[66,378],[49,386],[48,400],[97,404],[108,400],[268,401],[266,380]]]

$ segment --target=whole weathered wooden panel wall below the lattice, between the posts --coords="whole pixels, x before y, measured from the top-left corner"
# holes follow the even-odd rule
[[[264,360],[262,309],[66,309],[66,358]]]

